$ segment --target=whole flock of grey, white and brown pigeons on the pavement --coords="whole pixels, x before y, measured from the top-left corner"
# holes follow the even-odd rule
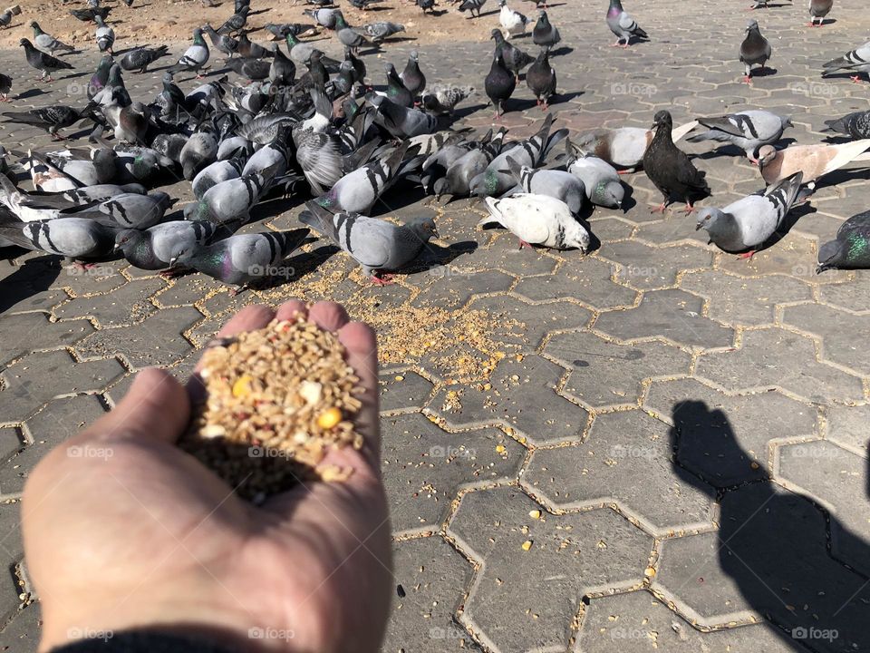
[[[868,161],[870,112],[829,121],[842,143],[799,145],[777,150],[791,126],[786,116],[762,110],[699,118],[674,127],[669,112],[655,114],[649,130],[634,127],[599,129],[569,138],[554,129],[547,114],[538,131],[518,141],[507,130],[474,135],[451,131],[459,102],[474,89],[449,83],[428,83],[420,56],[411,53],[403,71],[385,65],[385,85],[375,90],[366,81],[363,48],[378,48],[401,24],[348,24],[342,11],[318,5],[305,12],[310,24],[267,24],[276,40],[268,47],[248,38],[250,0],[235,0],[234,14],[214,28],[204,25],[193,43],[162,77],[162,90],[148,103],[134,101],[123,72],[142,73],[161,57],[165,46],[138,47],[115,59],[114,32],[107,23],[110,7],[88,0],[73,10],[96,24],[94,34],[102,60],[87,86],[89,102],[82,109],[54,105],[30,112],[6,112],[13,122],[38,125],[61,140],[61,130],[92,122],[90,151],[20,154],[18,165],[34,190],[17,186],[5,158],[0,174],[0,245],[16,245],[72,258],[90,266],[95,260],[122,254],[132,265],[174,274],[198,270],[237,288],[261,284],[314,229],[343,249],[371,275],[374,283],[390,282],[390,273],[409,266],[431,238],[438,237],[432,219],[396,224],[368,217],[382,194],[398,184],[422,187],[440,200],[478,196],[488,217],[481,226],[512,231],[520,247],[589,248],[588,223],[581,213],[589,206],[622,208],[624,172],[643,168],[662,192],[666,210],[674,199],[693,202],[710,194],[698,170],[676,142],[727,142],[745,151],[759,167],[766,189],[722,209],[697,211],[697,229],[727,252],[751,256],[783,226],[795,205],[806,201],[817,180],[852,161]],[[350,0],[364,8],[379,0]],[[460,11],[472,15],[486,0],[461,0]],[[417,0],[425,13],[428,0]],[[556,27],[541,11],[532,30],[536,57],[516,45],[530,21],[499,0],[499,23],[491,69],[484,81],[496,117],[514,92],[520,73],[538,105],[546,110],[556,95],[556,72],[549,57],[561,41]],[[824,17],[831,1],[813,0],[813,23]],[[757,6],[766,5],[759,0]],[[826,7],[826,8],[825,8]],[[0,15],[0,21],[3,16]],[[606,24],[614,45],[629,47],[650,36],[628,15],[620,0],[610,0]],[[51,79],[51,73],[72,68],[54,56],[72,51],[35,21],[34,40],[22,39],[27,63]],[[314,30],[334,34],[344,58],[334,60],[301,37]],[[211,46],[209,47],[206,41]],[[221,70],[237,74],[200,83],[184,93],[179,73],[199,78],[208,70],[213,51],[226,54]],[[753,54],[755,53],[755,54]],[[759,54],[761,53],[761,54]],[[770,46],[751,21],[740,58],[749,66],[765,63]],[[764,60],[760,61],[759,57]],[[826,64],[826,72],[870,71],[870,44]],[[5,86],[5,88],[4,88]],[[11,82],[0,80],[4,99]],[[104,136],[111,133],[112,145]],[[551,157],[564,141],[565,153]],[[564,161],[559,168],[547,161]],[[183,219],[169,219],[174,201],[160,190],[183,176],[195,198]],[[252,210],[270,197],[310,194],[299,219],[301,229],[237,233]],[[169,217],[173,217],[169,214]],[[870,216],[849,219],[836,240],[819,250],[818,270],[870,267]],[[236,289],[237,289],[236,288]]]

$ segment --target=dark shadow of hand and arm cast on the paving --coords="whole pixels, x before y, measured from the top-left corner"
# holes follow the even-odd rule
[[[870,580],[832,558],[827,547],[827,521],[846,528],[803,494],[772,482],[764,469],[764,453],[756,452],[761,459],[755,462],[756,454],[740,446],[723,411],[684,401],[673,406],[672,418],[674,469],[681,480],[703,492],[712,494],[710,486],[715,488],[719,569],[748,607],[768,619],[793,650],[870,650],[865,621]],[[861,545],[860,560],[870,560],[870,546],[864,541]],[[700,567],[701,560],[691,560],[690,566],[695,564]],[[725,607],[726,588],[703,591],[708,602],[710,592],[726,594],[716,599],[721,613],[739,609],[733,600]],[[680,590],[675,592],[680,596]],[[689,603],[693,605],[691,599]]]

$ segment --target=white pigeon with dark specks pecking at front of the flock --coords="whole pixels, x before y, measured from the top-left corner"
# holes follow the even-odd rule
[[[589,249],[589,232],[571,215],[562,200],[547,195],[520,193],[484,200],[489,216],[478,227],[499,225],[519,239],[519,247],[543,245],[550,249]]]

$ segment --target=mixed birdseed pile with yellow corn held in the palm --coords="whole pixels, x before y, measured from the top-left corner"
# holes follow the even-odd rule
[[[216,341],[199,373],[208,398],[179,446],[255,503],[299,482],[346,480],[353,470],[320,465],[331,448],[362,448],[362,387],[344,351],[304,318]]]

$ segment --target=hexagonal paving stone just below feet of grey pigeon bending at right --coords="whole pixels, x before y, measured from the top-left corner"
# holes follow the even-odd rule
[[[812,299],[810,288],[795,278],[748,279],[721,270],[689,272],[680,288],[706,297],[707,315],[730,326],[773,324],[777,304]]]

